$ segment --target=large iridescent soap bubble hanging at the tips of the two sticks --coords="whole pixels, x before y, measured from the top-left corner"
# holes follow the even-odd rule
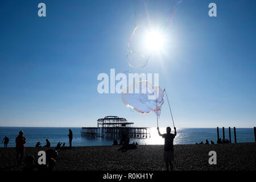
[[[123,104],[139,113],[155,112],[160,115],[164,103],[164,92],[160,86],[153,86],[148,81],[138,81],[123,89]]]

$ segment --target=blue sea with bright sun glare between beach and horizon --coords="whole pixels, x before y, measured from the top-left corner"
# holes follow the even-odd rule
[[[0,127],[0,147],[3,147],[2,139],[8,137],[10,142],[8,147],[15,147],[15,138],[19,131],[23,130],[27,139],[26,147],[34,147],[39,141],[42,146],[46,144],[46,139],[51,142],[51,147],[55,147],[58,142],[65,142],[65,146],[69,146],[68,127]],[[109,146],[113,144],[113,138],[101,137],[82,137],[80,127],[71,127],[73,131],[72,146]],[[222,128],[219,129],[220,138],[222,138]],[[160,133],[166,133],[166,128],[160,128]],[[171,133],[174,133],[172,131]],[[255,142],[253,128],[236,128],[237,143]],[[225,138],[229,139],[229,130],[225,128]],[[214,143],[217,141],[216,128],[177,128],[177,136],[174,144],[195,144],[208,139]],[[147,138],[135,139],[131,138],[130,143],[138,144],[164,144],[164,139],[158,135],[155,127],[150,128],[150,135]],[[234,132],[231,130],[231,142],[234,143]]]

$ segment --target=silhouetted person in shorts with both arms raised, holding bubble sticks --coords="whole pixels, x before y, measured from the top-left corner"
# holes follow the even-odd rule
[[[160,134],[159,127],[158,134],[164,138],[164,162],[166,163],[166,170],[169,171],[169,166],[171,171],[174,170],[172,161],[174,161],[174,138],[177,135],[176,127],[174,127],[174,134],[171,134],[171,127],[166,128],[166,134]]]

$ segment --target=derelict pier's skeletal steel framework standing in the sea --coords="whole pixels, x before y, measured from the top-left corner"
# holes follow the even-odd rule
[[[81,135],[88,137],[120,138],[124,131],[130,138],[150,137],[150,128],[133,127],[133,122],[125,118],[106,116],[97,120],[97,127],[82,127]]]

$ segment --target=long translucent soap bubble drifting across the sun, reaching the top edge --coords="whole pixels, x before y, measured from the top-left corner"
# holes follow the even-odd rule
[[[166,27],[181,0],[133,0],[135,28],[127,44],[127,63],[143,68],[152,51],[160,49]]]

